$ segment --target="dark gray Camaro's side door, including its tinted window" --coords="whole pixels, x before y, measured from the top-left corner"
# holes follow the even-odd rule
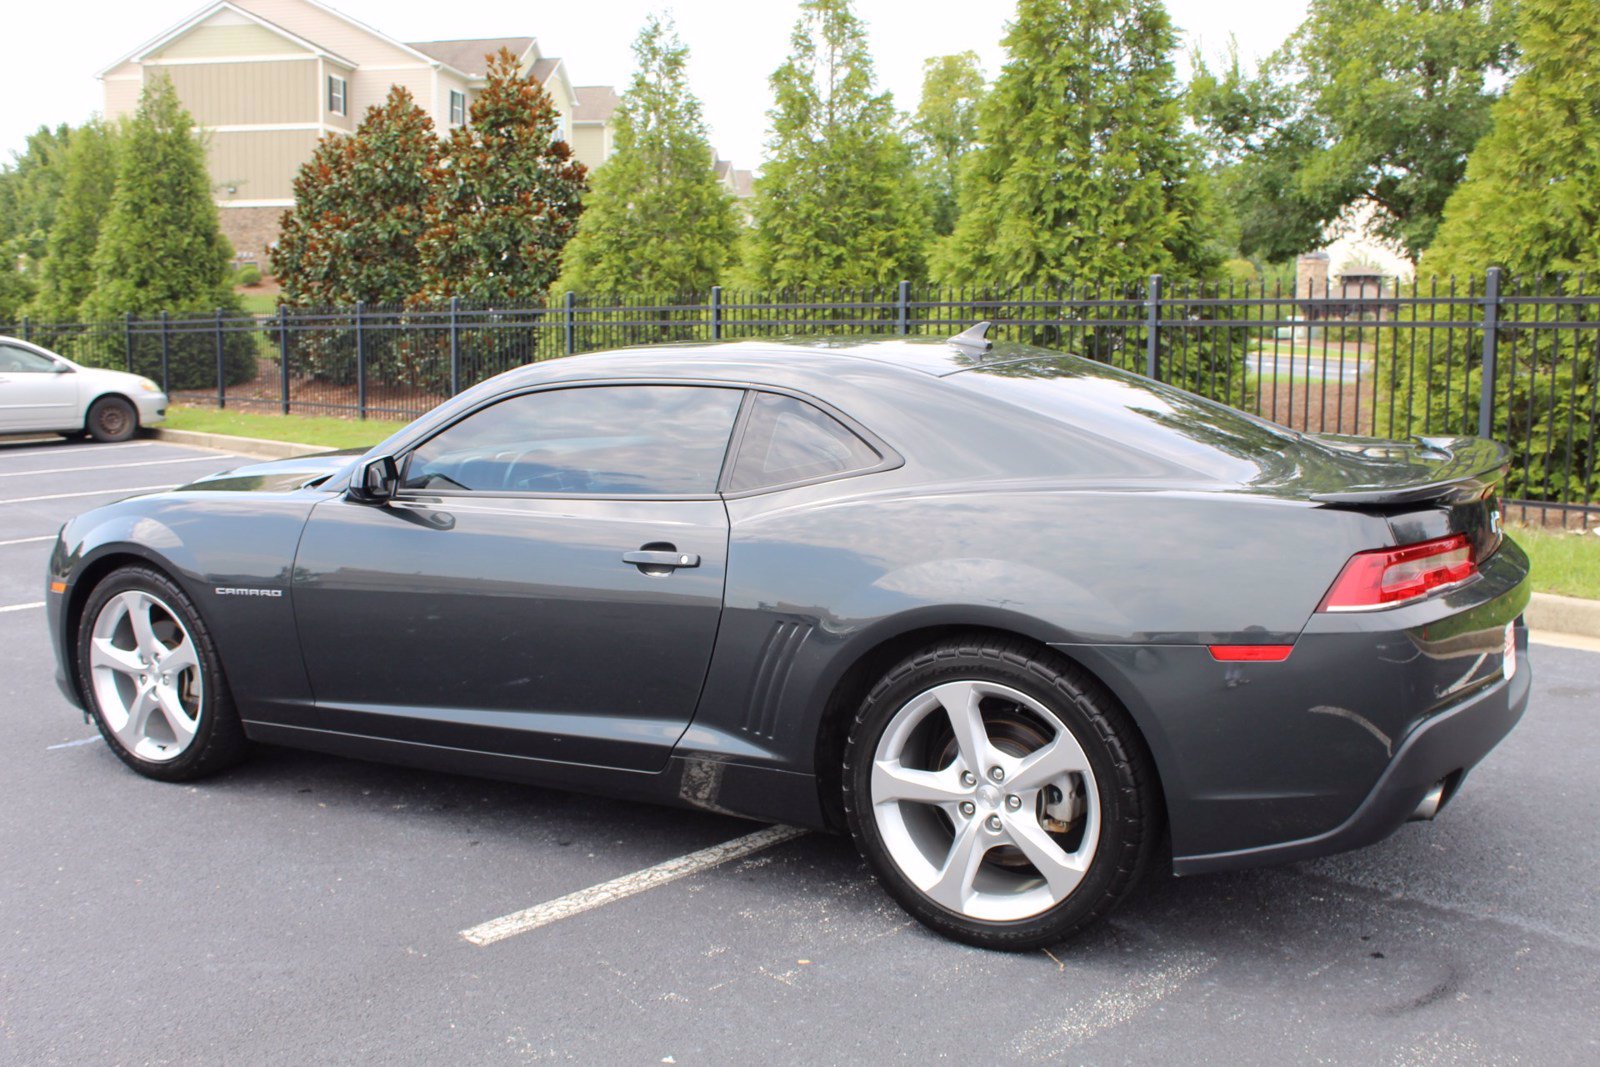
[[[661,769],[722,614],[741,389],[544,389],[318,504],[293,598],[323,729]]]

